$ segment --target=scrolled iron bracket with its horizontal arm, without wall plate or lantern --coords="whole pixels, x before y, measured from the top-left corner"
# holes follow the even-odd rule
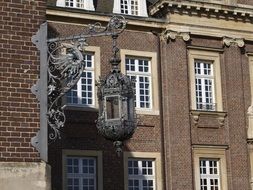
[[[115,36],[123,32],[126,21],[114,16],[106,27],[100,23],[89,25],[82,34],[66,38],[49,39],[48,43],[48,113],[49,140],[60,138],[65,123],[61,98],[73,88],[85,68],[83,52],[88,45],[86,39],[98,36]]]

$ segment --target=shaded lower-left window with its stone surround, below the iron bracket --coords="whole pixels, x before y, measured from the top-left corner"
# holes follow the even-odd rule
[[[63,150],[63,189],[102,190],[102,152]]]

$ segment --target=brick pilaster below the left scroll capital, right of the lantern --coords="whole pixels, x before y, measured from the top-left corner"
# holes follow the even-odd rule
[[[187,50],[182,39],[163,43],[162,99],[167,188],[192,190]]]

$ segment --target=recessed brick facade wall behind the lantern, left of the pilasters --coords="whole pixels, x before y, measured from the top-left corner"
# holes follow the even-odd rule
[[[82,30],[80,25],[50,23],[50,31],[60,36],[78,34]],[[87,42],[91,46],[100,47],[101,77],[105,77],[111,69],[111,38],[90,38]],[[120,49],[158,52],[157,37],[145,32],[124,31],[119,36],[118,46]],[[63,138],[49,146],[53,189],[62,189],[62,181],[59,180],[62,179],[62,149],[103,151],[103,189],[124,189],[123,156],[117,157],[112,142],[97,134],[95,120],[98,113],[71,110],[66,112],[66,116]],[[125,142],[124,151],[161,152],[160,116],[139,115],[138,124],[133,138]]]

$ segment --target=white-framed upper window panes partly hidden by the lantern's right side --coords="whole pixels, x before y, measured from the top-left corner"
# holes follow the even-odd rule
[[[150,60],[126,57],[126,74],[135,80],[135,107],[152,108]]]

